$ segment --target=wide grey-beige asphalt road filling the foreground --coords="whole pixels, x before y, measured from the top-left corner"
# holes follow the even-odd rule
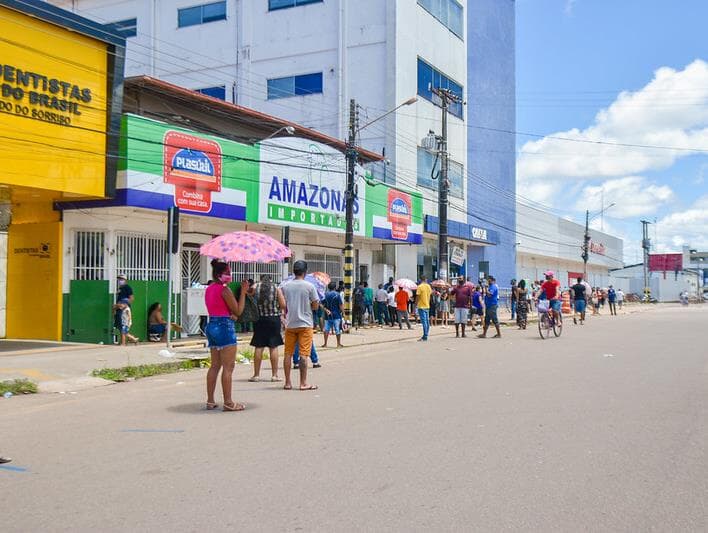
[[[706,309],[0,399],[0,529],[706,531]],[[335,356],[332,356],[335,357]],[[24,470],[23,470],[24,469]]]

